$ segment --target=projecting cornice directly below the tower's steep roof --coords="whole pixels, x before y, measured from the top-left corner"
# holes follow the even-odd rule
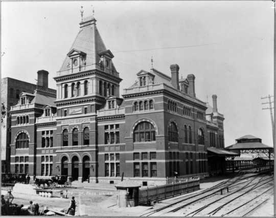
[[[56,80],[56,82],[61,82],[61,81],[64,81],[64,80],[85,77],[85,76],[93,75],[93,74],[96,74],[96,75],[98,74],[102,77],[114,80],[118,83],[123,80],[120,77],[113,76],[111,74],[107,74],[104,71],[100,71],[98,69],[97,70],[92,70],[92,71],[91,70],[83,71],[83,72],[78,72],[78,73],[73,73],[73,74],[66,74],[66,75],[63,75],[63,76],[57,76],[57,77],[54,77],[53,79]]]

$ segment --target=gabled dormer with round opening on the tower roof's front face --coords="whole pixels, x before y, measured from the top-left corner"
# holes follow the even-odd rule
[[[72,73],[81,71],[82,67],[86,66],[86,53],[77,49],[71,49],[67,56],[70,60],[67,62],[67,68],[72,70]]]

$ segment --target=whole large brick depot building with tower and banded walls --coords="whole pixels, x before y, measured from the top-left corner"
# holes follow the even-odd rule
[[[196,98],[195,76],[141,70],[124,89],[96,27],[87,17],[48,88],[38,71],[34,92],[11,107],[11,172],[67,175],[116,183],[124,177],[148,184],[167,177],[208,175],[207,148],[224,147],[223,115]]]

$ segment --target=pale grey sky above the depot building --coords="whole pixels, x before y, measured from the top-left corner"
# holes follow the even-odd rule
[[[194,74],[197,98],[225,117],[225,146],[244,135],[272,146],[269,110],[261,97],[273,94],[272,1],[2,2],[2,77],[35,83],[49,71],[49,86],[69,51],[81,21],[95,8],[97,27],[120,77],[120,93],[140,70],[170,76]],[[93,5],[93,7],[92,7]],[[140,51],[137,51],[140,50]],[[144,50],[144,51],[141,51]],[[145,51],[146,50],[146,51]]]

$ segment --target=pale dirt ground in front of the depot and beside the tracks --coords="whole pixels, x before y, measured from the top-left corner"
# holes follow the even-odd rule
[[[227,178],[217,178],[212,180],[204,180],[200,184],[200,190],[212,187]],[[18,205],[29,205],[29,201],[39,204],[40,209],[45,207],[54,208],[57,210],[67,209],[70,204],[72,196],[75,197],[77,208],[76,216],[93,215],[93,216],[137,216],[150,210],[153,206],[138,206],[119,208],[117,204],[117,193],[114,185],[110,184],[90,184],[89,186],[78,186],[78,188],[71,188],[68,190],[68,198],[45,198],[39,195],[30,195],[22,193],[14,193],[13,203]],[[197,191],[197,192],[198,192]],[[191,194],[191,193],[189,193]],[[177,198],[177,197],[175,197]],[[161,204],[168,204],[173,198],[160,202]],[[157,205],[155,205],[157,206]],[[248,216],[273,216],[273,193],[271,198],[263,205],[258,207]],[[165,215],[165,214],[164,214]],[[170,214],[172,215],[172,214]],[[179,215],[179,214],[175,214]]]

